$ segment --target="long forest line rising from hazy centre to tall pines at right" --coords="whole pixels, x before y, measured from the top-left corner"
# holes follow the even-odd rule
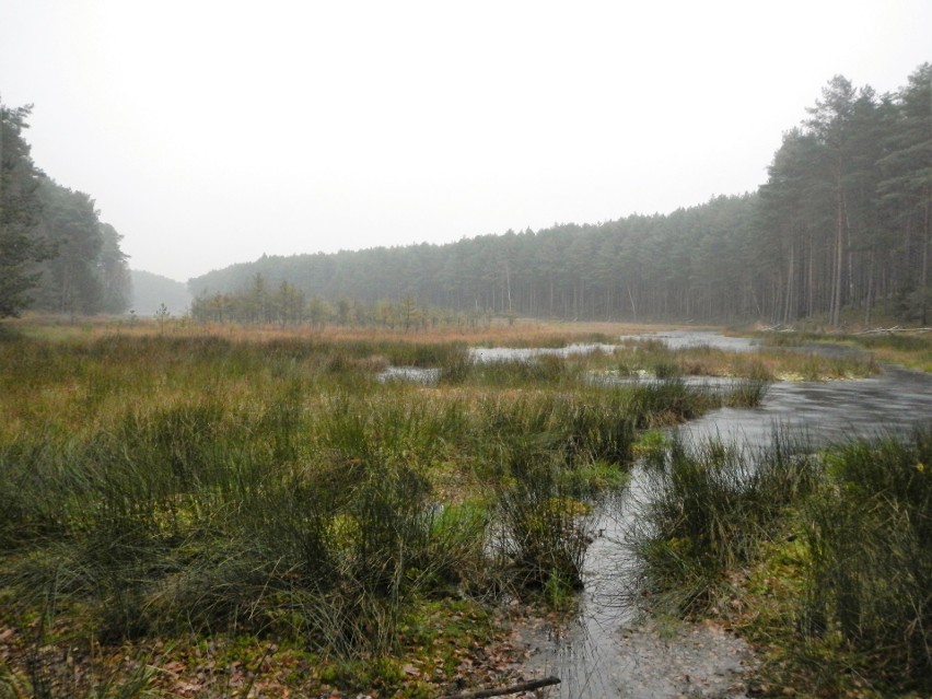
[[[877,95],[843,77],[783,135],[757,191],[668,214],[509,231],[446,245],[264,256],[191,279],[198,304],[260,276],[307,300],[412,299],[461,314],[838,326],[928,323],[932,68]]]

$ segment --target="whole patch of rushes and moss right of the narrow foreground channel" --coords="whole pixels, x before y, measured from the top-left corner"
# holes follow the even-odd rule
[[[806,455],[674,442],[636,549],[663,609],[725,618],[762,652],[756,691],[932,689],[932,431]],[[913,696],[913,695],[910,695]]]

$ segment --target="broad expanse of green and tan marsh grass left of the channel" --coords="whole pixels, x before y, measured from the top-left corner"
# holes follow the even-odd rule
[[[726,399],[590,385],[615,361],[597,353],[478,364],[403,335],[22,327],[0,341],[11,696],[170,694],[198,674],[245,696],[271,663],[313,668],[272,696],[501,677],[504,655],[456,649],[496,644],[503,596],[571,604],[589,503],[625,482],[639,431]],[[445,378],[381,381],[389,363]],[[452,609],[458,625],[430,626]]]

